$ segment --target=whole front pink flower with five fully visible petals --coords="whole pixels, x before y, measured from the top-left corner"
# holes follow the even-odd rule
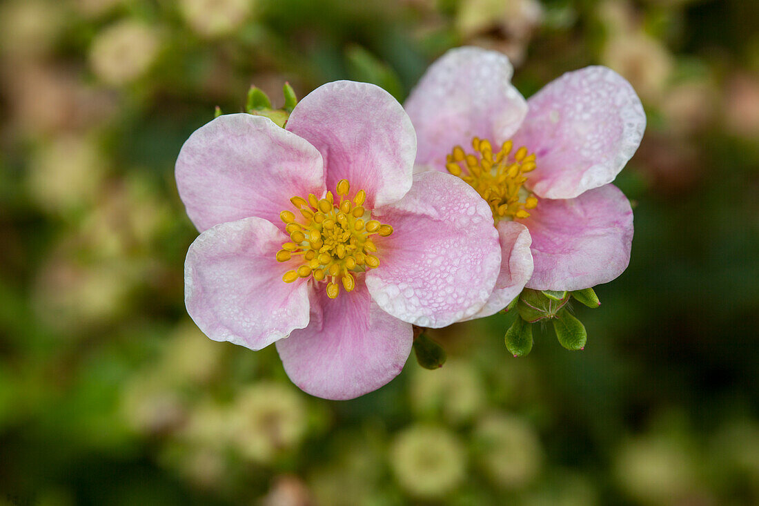
[[[184,271],[198,327],[250,349],[276,342],[319,397],[398,375],[411,324],[473,315],[500,263],[487,204],[454,176],[412,175],[415,155],[402,106],[350,81],[314,90],[286,128],[233,114],[195,131],[176,177],[202,232]]]

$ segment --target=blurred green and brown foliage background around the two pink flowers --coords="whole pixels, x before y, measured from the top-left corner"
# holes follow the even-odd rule
[[[0,3],[0,504],[759,504],[757,27],[744,0]],[[584,352],[548,327],[513,359],[499,315],[330,402],[200,334],[187,136],[250,84],[403,100],[461,44],[525,96],[600,63],[644,102]]]

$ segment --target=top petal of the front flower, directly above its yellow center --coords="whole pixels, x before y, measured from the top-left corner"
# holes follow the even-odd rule
[[[374,84],[324,84],[295,106],[285,128],[320,150],[328,189],[348,179],[351,197],[367,192],[367,208],[395,202],[411,188],[414,126],[401,104]]]

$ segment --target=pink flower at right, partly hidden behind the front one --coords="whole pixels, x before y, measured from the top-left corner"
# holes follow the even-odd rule
[[[524,286],[607,283],[630,260],[632,210],[609,183],[645,129],[635,90],[609,68],[587,67],[525,101],[511,77],[505,55],[452,49],[405,103],[417,130],[417,170],[461,177],[493,212],[501,275],[477,316],[496,312]]]

